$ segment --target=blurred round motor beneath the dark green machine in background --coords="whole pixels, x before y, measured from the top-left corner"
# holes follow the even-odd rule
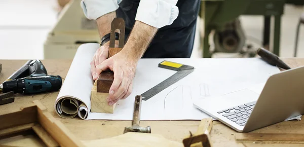
[[[241,52],[246,38],[239,18],[227,22],[222,28],[215,30],[213,40],[215,52]]]

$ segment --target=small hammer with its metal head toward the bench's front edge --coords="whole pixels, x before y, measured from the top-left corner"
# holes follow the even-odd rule
[[[150,126],[147,126],[147,127],[139,126],[141,99],[142,99],[142,97],[140,95],[135,96],[132,127],[125,127],[124,133],[127,133],[127,132],[151,133]]]

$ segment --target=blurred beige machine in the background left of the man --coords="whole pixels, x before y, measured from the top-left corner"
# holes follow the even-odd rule
[[[44,59],[73,59],[80,45],[100,44],[96,21],[86,18],[80,3],[73,0],[61,10],[44,44]]]

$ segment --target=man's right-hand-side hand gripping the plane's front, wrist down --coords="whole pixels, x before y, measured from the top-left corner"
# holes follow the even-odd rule
[[[137,59],[132,57],[128,49],[120,51],[96,66],[94,79],[97,79],[99,74],[107,69],[114,72],[114,81],[110,87],[107,98],[109,105],[113,105],[120,99],[125,99],[131,94],[136,66]]]

